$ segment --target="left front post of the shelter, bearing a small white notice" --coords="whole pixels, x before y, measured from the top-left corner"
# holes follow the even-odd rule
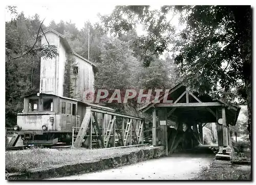
[[[160,122],[161,134],[159,136],[161,145],[165,146],[166,155],[168,155],[168,143],[167,143],[167,110],[166,108],[161,108],[158,111],[158,119]]]

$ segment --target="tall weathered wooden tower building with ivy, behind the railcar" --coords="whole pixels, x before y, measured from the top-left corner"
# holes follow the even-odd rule
[[[47,45],[49,42],[50,45],[57,47],[58,52],[58,56],[53,59],[41,57],[40,93],[63,96],[66,62],[69,58],[73,58],[75,61],[70,70],[73,98],[80,101],[86,100],[86,93],[94,91],[96,65],[73,52],[66,37],[53,29],[49,28],[44,33],[40,33],[39,36],[42,45]]]

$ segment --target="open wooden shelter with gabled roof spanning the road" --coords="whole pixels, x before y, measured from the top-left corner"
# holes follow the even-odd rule
[[[173,102],[163,103],[163,99]],[[158,100],[139,108],[139,111],[152,114],[154,146],[165,145],[168,154],[173,153],[178,145],[183,146],[188,140],[191,147],[202,144],[203,126],[205,123],[215,122],[219,145],[216,156],[230,158],[229,125],[236,125],[240,107],[231,104],[227,106],[226,103],[214,100],[208,94],[190,92],[182,83],[175,84],[168,90],[168,96],[167,93],[162,94]],[[166,124],[170,121],[176,123],[176,129],[173,131]],[[187,128],[185,131],[184,126]]]

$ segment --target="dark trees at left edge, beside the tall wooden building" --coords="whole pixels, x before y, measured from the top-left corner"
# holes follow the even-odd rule
[[[16,124],[18,112],[23,110],[23,98],[39,91],[40,57],[54,57],[56,47],[41,46],[37,35],[43,21],[37,15],[26,18],[17,14],[6,22],[6,126]],[[38,23],[38,25],[36,25]],[[53,50],[51,50],[53,49]]]

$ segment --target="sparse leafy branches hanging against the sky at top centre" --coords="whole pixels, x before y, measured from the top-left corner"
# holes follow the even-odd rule
[[[159,57],[172,40],[175,27],[166,18],[174,6],[163,6],[160,10],[150,10],[150,6],[116,6],[111,15],[101,16],[103,28],[115,36],[132,31],[142,24],[145,35],[134,40],[134,44],[143,51],[140,57],[147,67]]]

